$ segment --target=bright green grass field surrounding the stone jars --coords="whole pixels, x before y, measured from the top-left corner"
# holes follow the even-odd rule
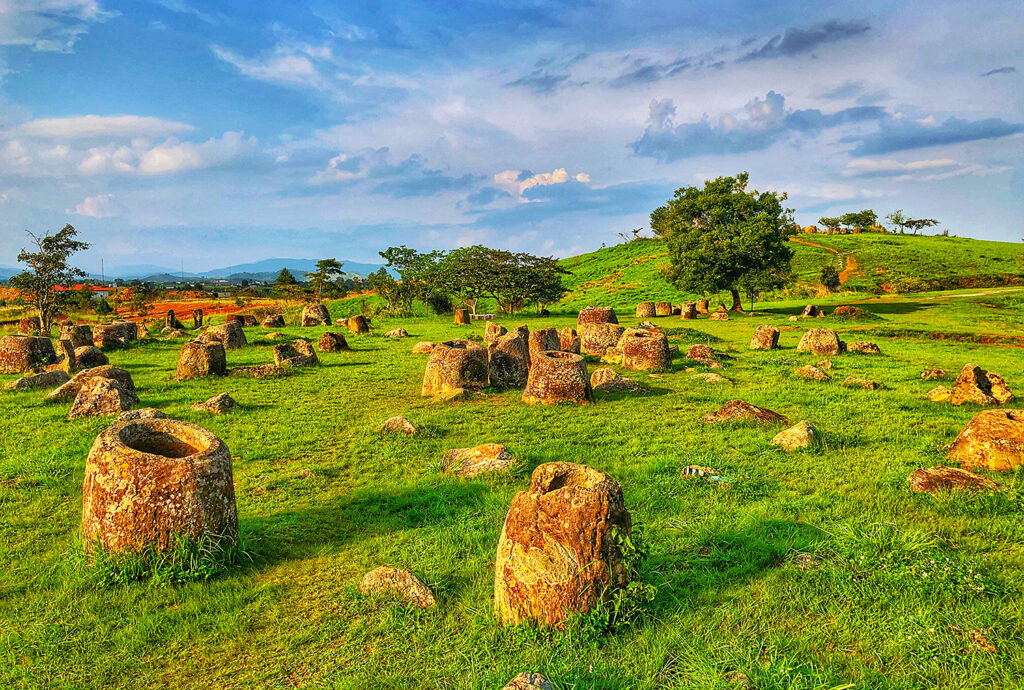
[[[640,279],[634,267],[623,281]],[[599,393],[582,407],[527,406],[517,391],[458,403],[420,397],[426,357],[412,345],[482,335],[481,325],[454,327],[450,317],[381,319],[377,335],[349,339],[353,352],[261,381],[174,382],[180,341],[113,352],[142,405],[210,429],[233,457],[248,556],[227,573],[177,586],[104,586],[82,556],[84,463],[110,420],[69,422],[68,405],[45,403],[43,392],[0,391],[0,687],[482,689],[523,671],[561,689],[740,687],[734,672],[762,689],[1024,687],[1024,473],[989,473],[1008,487],[996,494],[930,497],[906,485],[913,469],[943,463],[977,412],[925,400],[935,382],[921,380],[923,369],[974,361],[1024,392],[1021,349],[971,340],[1020,335],[1022,298],[1011,290],[870,300],[861,306],[878,320],[814,321],[884,352],[833,357],[825,384],[792,377],[820,359],[796,352],[800,330],[784,331],[777,351],[746,349],[760,324],[805,327],[787,320],[802,304],[729,321],[665,318],[684,351],[709,342],[732,355],[722,373],[735,387],[693,379],[677,357],[660,378],[620,369],[646,394]],[[635,324],[632,308],[621,320]],[[564,327],[574,316],[503,322]],[[381,337],[399,325],[410,339]],[[247,335],[250,347],[230,351],[229,365],[271,359],[263,332]],[[886,388],[839,386],[848,375]],[[240,407],[223,417],[189,411],[220,391]],[[825,446],[785,454],[768,443],[777,428],[699,422],[733,397],[811,420]],[[376,433],[393,415],[426,433]],[[473,480],[438,471],[444,450],[488,441],[507,444],[520,469]],[[506,510],[530,470],[556,460],[617,479],[644,526],[651,555],[642,573],[657,593],[633,628],[545,634],[493,617]],[[680,477],[690,464],[729,481]],[[806,554],[819,566],[798,567]],[[436,609],[359,595],[362,574],[385,564],[418,574]],[[972,631],[995,651],[973,643]]]

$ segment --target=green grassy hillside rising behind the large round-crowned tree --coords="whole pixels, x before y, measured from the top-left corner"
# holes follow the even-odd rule
[[[923,292],[1019,283],[1017,243],[968,238],[899,234],[803,234],[795,238],[794,273],[798,282],[816,283],[821,264],[836,261],[844,288],[868,293]],[[668,265],[665,245],[640,240],[570,257],[562,265],[569,294],[560,306],[609,304],[631,308],[637,302],[681,302],[697,295],[669,285],[659,270]]]

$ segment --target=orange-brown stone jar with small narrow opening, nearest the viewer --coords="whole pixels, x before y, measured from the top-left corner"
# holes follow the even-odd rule
[[[547,463],[512,499],[495,559],[503,624],[561,628],[629,581],[616,532],[633,523],[614,479],[586,465]]]

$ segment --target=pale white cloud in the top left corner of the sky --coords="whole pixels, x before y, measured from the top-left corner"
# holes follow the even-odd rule
[[[71,52],[90,24],[116,14],[96,0],[0,0],[0,45]]]

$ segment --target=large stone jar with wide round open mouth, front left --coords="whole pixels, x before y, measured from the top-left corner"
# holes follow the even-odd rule
[[[87,549],[169,551],[176,537],[236,542],[231,455],[187,422],[116,423],[92,444],[82,487]]]

